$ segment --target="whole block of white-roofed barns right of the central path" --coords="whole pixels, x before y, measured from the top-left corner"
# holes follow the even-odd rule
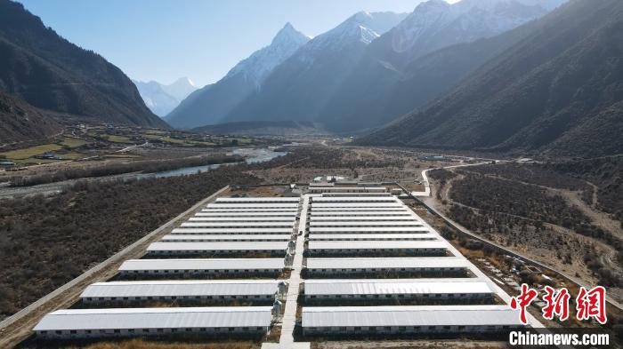
[[[378,188],[369,192],[386,192]],[[303,334],[430,336],[521,326],[517,313],[498,302],[495,284],[476,277],[474,266],[413,210],[395,196],[367,192],[312,191]]]

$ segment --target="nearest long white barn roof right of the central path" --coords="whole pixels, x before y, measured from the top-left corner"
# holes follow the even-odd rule
[[[303,307],[303,328],[337,326],[521,326],[508,305]]]

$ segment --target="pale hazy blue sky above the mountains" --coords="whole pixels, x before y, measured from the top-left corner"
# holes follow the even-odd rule
[[[289,21],[317,36],[361,10],[411,12],[422,0],[19,0],[74,44],[139,80],[214,83]]]

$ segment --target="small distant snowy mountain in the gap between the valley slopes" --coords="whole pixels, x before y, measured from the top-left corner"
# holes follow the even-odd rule
[[[139,89],[145,105],[155,115],[159,116],[169,114],[183,99],[197,90],[197,87],[188,77],[182,77],[168,85],[156,81],[142,82],[133,80],[133,83]]]

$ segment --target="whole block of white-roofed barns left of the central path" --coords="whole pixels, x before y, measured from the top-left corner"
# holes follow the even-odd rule
[[[218,198],[151,243],[146,258],[126,260],[115,281],[88,286],[84,308],[49,313],[34,331],[45,338],[264,335],[287,291],[278,278],[291,259],[298,205],[298,197]],[[153,307],[158,302],[184,306]]]

